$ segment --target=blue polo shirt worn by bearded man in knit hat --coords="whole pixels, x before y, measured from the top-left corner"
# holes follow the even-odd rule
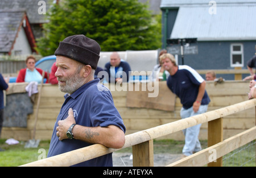
[[[70,96],[65,94],[65,101],[55,123],[48,156],[55,156],[64,152],[90,146],[92,143],[76,139],[64,139],[56,136],[57,122],[68,117],[69,108],[73,109],[76,124],[87,127],[106,127],[115,125],[125,133],[125,125],[121,115],[114,106],[113,97],[109,89],[95,79],[81,86]],[[112,153],[76,164],[76,166],[113,166]]]

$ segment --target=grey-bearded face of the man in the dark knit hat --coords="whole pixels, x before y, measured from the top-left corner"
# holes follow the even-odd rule
[[[85,78],[82,77],[81,68],[77,61],[64,56],[56,57],[57,71],[55,76],[59,81],[59,89],[64,93],[73,93],[83,84]]]

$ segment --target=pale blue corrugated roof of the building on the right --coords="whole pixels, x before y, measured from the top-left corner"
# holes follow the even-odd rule
[[[218,4],[216,14],[209,5],[181,6],[171,39],[256,40],[256,3]]]

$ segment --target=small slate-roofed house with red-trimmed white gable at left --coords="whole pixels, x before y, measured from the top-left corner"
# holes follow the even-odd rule
[[[0,10],[0,54],[8,56],[35,53],[35,38],[24,9]]]

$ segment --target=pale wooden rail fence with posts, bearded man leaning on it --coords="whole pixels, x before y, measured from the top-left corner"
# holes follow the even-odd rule
[[[221,109],[209,111],[204,114],[195,115],[179,121],[153,127],[151,129],[138,131],[137,133],[126,135],[126,142],[123,148],[130,146],[133,147],[133,166],[154,166],[153,139],[187,129],[188,127],[192,127],[200,123],[208,122],[209,147],[168,166],[202,166],[208,163],[208,166],[221,166],[221,156],[243,146],[246,143],[249,143],[251,140],[256,139],[256,126],[254,126],[241,134],[222,141],[222,118],[227,115],[255,107],[255,105],[256,99],[248,100],[235,105],[222,107]],[[218,158],[216,162],[212,163],[210,163],[208,159],[210,156],[209,150],[211,149],[215,149],[217,151]],[[78,150],[73,150],[61,155],[24,164],[22,166],[70,166],[97,158],[98,156],[109,154],[113,151],[117,151],[117,149],[106,148],[101,144],[94,144],[89,147],[80,148]]]

